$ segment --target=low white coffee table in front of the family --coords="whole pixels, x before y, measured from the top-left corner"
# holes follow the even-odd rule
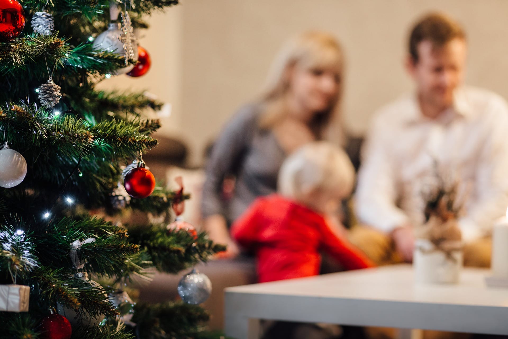
[[[257,338],[259,320],[508,334],[508,289],[485,286],[484,269],[459,285],[417,285],[410,265],[227,288],[226,335]]]

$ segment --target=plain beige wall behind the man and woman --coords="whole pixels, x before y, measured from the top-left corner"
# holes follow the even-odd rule
[[[506,0],[183,0],[157,15],[141,41],[154,59],[150,73],[117,82],[171,101],[165,122],[172,126],[163,132],[184,135],[198,163],[235,109],[255,98],[280,44],[302,30],[325,29],[344,47],[345,122],[361,134],[377,107],[410,90],[402,67],[407,29],[435,9],[468,32],[467,83],[508,98]]]

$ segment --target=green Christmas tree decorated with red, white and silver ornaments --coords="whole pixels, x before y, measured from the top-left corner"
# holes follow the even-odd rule
[[[195,304],[207,286],[183,291],[189,303],[135,304],[126,293],[151,267],[177,273],[224,247],[188,226],[115,222],[124,209],[180,209],[188,196],[156,187],[142,161],[160,127],[143,113],[162,103],[96,88],[146,72],[134,29],[176,4],[0,0],[0,337],[208,335]]]

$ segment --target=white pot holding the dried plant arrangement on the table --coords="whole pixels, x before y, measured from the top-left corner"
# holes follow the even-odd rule
[[[454,258],[435,248],[427,239],[416,239],[413,267],[415,282],[419,284],[458,284],[462,270],[463,253],[456,250]]]

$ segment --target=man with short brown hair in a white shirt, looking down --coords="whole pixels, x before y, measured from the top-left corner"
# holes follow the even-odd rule
[[[437,167],[459,181],[465,264],[490,264],[489,231],[508,206],[508,107],[490,91],[463,86],[466,54],[457,22],[425,16],[411,31],[405,65],[416,90],[374,116],[356,206],[362,223],[389,235],[358,244],[377,263],[392,260],[390,246],[412,261],[412,228],[424,222],[425,180]]]

